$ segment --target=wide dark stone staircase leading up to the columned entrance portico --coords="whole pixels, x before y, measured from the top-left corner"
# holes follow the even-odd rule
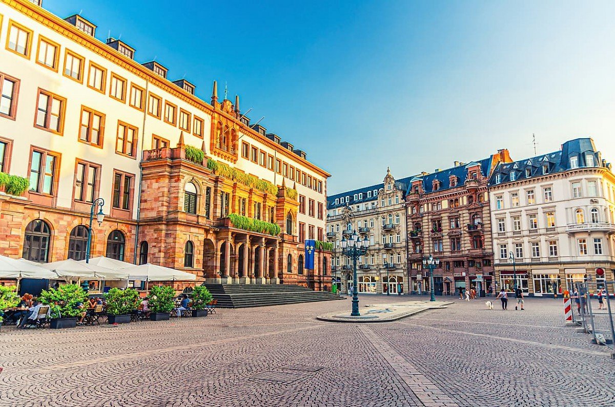
[[[220,308],[265,307],[344,299],[338,294],[285,284],[205,284]]]

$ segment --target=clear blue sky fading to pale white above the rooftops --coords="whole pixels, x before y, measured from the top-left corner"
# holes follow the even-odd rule
[[[615,163],[614,1],[44,0],[97,37],[240,95],[328,193],[591,136]]]

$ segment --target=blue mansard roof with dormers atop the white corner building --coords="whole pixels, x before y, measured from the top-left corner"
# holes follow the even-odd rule
[[[576,160],[576,165],[574,162]],[[589,162],[588,162],[589,161]],[[489,180],[489,186],[525,180],[534,176],[560,173],[582,167],[610,167],[603,163],[591,138],[566,141],[560,151],[526,158],[507,164],[500,163]],[[511,173],[514,173],[511,180]]]

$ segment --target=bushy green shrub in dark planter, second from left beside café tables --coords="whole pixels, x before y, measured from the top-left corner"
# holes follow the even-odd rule
[[[87,293],[78,284],[66,284],[42,290],[39,299],[51,307],[51,328],[74,328],[77,316],[85,312],[79,304],[85,303]]]

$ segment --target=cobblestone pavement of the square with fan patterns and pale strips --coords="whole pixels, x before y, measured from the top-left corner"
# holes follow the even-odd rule
[[[403,301],[362,296],[361,304]],[[416,298],[415,298],[416,299]],[[450,298],[445,298],[450,299]],[[397,322],[315,320],[329,301],[206,318],[0,333],[0,407],[609,406],[615,361],[561,300],[455,300]]]

